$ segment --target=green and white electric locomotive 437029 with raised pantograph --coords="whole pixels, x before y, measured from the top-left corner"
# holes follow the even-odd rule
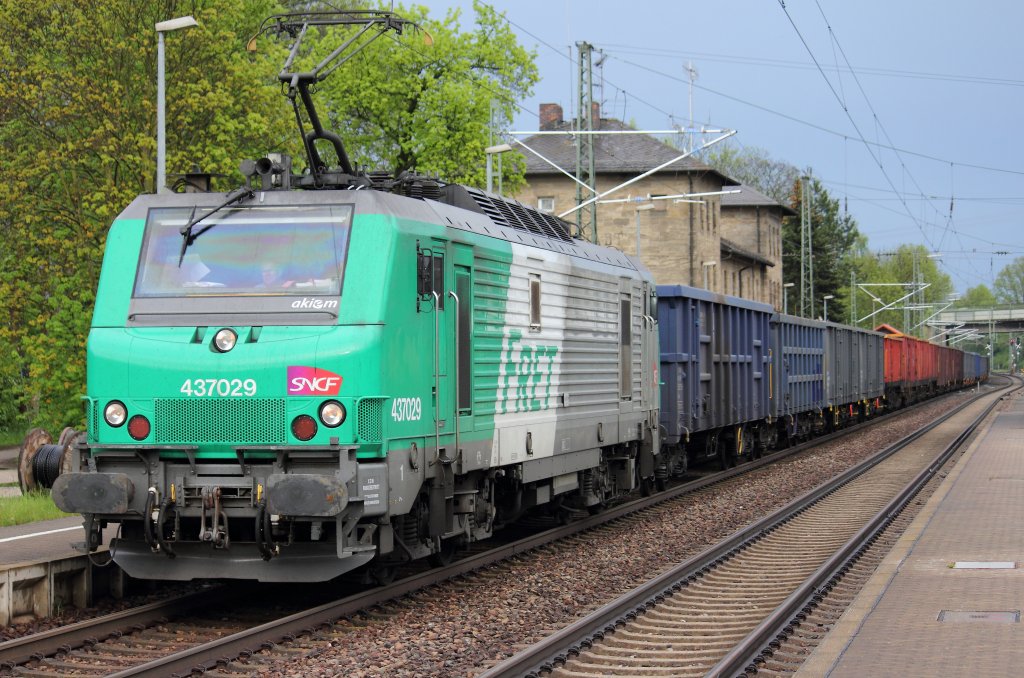
[[[402,25],[334,17],[357,22]],[[649,483],[649,273],[513,201],[354,171],[312,109],[322,70],[290,67],[307,172],[246,162],[238,190],[143,195],[111,227],[88,433],[53,485],[88,546],[118,523],[143,579],[385,578]]]

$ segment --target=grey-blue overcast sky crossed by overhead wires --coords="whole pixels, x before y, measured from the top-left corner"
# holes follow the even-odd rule
[[[436,17],[464,7],[463,28],[472,23],[470,0],[423,4]],[[697,124],[810,168],[872,250],[923,244],[959,292],[991,287],[1024,256],[1024,3],[494,4],[538,54],[542,80],[517,129],[537,129],[542,101],[570,115],[579,41],[603,51],[604,115],[641,129],[687,125],[691,62]]]

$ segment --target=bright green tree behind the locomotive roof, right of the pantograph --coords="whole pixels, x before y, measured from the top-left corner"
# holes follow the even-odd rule
[[[496,121],[510,124],[515,101],[529,95],[538,72],[535,54],[519,46],[494,7],[474,2],[473,10],[473,30],[462,32],[458,9],[434,20],[425,7],[397,6],[432,44],[414,30],[380,38],[322,84],[321,117],[341,134],[354,162],[394,175],[415,169],[484,184],[492,102]],[[337,32],[319,38],[307,59],[340,44]],[[513,193],[523,183],[525,163],[509,154],[502,165],[504,187]]]

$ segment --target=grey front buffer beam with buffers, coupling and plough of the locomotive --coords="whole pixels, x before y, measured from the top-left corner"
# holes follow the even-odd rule
[[[139,579],[315,582],[376,555],[373,525],[357,523],[386,506],[384,463],[357,463],[355,448],[339,446],[239,448],[237,457],[200,463],[175,447],[83,446],[76,461],[103,470],[60,475],[53,499],[85,515],[92,548],[102,523],[120,522],[111,552]]]

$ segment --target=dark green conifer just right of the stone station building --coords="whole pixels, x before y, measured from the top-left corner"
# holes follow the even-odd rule
[[[803,181],[792,186],[787,204],[801,214],[803,210]],[[814,257],[813,316],[822,314],[822,299],[828,301],[828,317],[837,322],[850,320],[850,273],[858,255],[865,248],[864,239],[857,230],[857,222],[840,209],[839,201],[817,179],[811,180],[811,245]],[[790,310],[800,309],[801,271],[801,220],[799,216],[786,217],[782,222],[782,280],[794,283],[790,291]],[[805,304],[809,300],[805,299]]]

